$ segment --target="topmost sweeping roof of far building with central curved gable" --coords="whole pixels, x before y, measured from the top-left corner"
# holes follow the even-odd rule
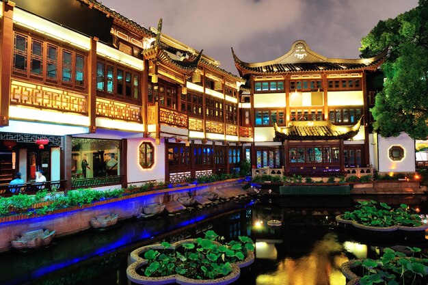
[[[232,48],[235,66],[241,76],[245,74],[278,74],[295,72],[322,72],[335,70],[375,70],[386,57],[387,50],[371,58],[329,58],[312,51],[304,40],[297,40],[291,49],[277,59],[268,62],[243,62]]]

